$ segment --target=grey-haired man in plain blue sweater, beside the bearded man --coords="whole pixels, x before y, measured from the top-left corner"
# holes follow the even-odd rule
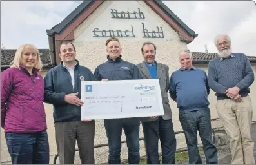
[[[202,164],[197,147],[197,130],[204,145],[206,164],[218,164],[217,148],[212,141],[207,75],[192,66],[190,50],[179,52],[181,68],[170,78],[170,96],[177,102],[179,120],[186,137],[190,164]]]

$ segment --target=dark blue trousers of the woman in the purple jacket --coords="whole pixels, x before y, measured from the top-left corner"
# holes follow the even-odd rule
[[[49,164],[47,131],[5,134],[12,164]]]

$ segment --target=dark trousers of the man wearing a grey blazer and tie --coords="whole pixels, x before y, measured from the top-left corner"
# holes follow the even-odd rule
[[[160,164],[158,142],[162,148],[162,164],[175,164],[176,138],[172,119],[159,117],[156,121],[141,122],[146,145],[147,164]]]

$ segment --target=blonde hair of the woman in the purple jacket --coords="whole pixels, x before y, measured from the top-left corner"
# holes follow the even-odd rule
[[[20,69],[19,63],[21,63],[21,55],[24,53],[24,51],[27,48],[32,48],[35,51],[35,53],[37,54],[37,63],[35,64],[34,67],[41,70],[43,68],[43,64],[41,62],[41,58],[39,57],[39,51],[33,44],[23,44],[23,45],[19,46],[19,48],[16,50],[14,60],[10,63],[10,67]]]

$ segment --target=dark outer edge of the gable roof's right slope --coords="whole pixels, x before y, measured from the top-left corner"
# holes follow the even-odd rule
[[[170,8],[168,8],[168,6],[164,5],[164,3],[162,3],[162,1],[159,1],[159,0],[155,0],[153,1],[155,2],[156,5],[160,6],[163,11],[165,11],[168,15],[170,15],[170,17],[173,18],[173,20],[179,24],[184,30],[185,32],[187,32],[187,34],[189,34],[190,36],[193,36],[193,37],[197,37],[198,34],[195,34],[195,32],[189,28],[183,21],[181,21],[181,19],[179,19],[179,17],[177,17],[177,15],[175,15],[172,10],[170,10]]]

